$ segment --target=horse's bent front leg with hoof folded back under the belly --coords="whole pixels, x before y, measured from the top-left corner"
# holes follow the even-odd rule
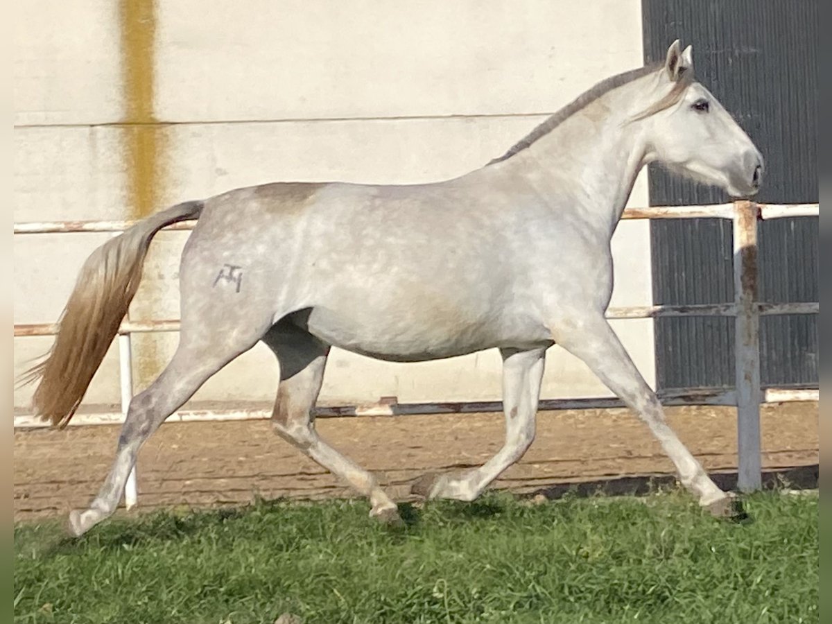
[[[506,418],[503,448],[482,467],[458,477],[424,475],[412,486],[414,494],[425,498],[473,501],[506,468],[522,458],[532,444],[546,348],[501,349],[500,353],[503,355],[503,412]]]

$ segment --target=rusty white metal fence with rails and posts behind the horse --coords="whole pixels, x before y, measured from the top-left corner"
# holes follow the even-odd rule
[[[714,305],[646,305],[613,307],[609,319],[652,319],[661,316],[733,316],[735,317],[735,389],[686,389],[660,394],[665,405],[734,405],[737,409],[737,485],[742,491],[761,486],[760,404],[818,400],[818,389],[760,388],[760,316],[770,314],[818,314],[817,302],[762,304],[757,301],[757,221],[793,216],[818,216],[818,204],[765,205],[753,201],[735,201],[712,206],[651,206],[627,208],[622,219],[731,219],[734,235],[734,301]],[[18,235],[69,232],[119,233],[135,221],[44,221],[17,223]],[[191,230],[195,221],[182,221],[166,230]],[[15,336],[49,336],[57,333],[57,324],[15,324]],[[118,335],[121,412],[113,414],[78,414],[72,425],[120,423],[124,420],[133,395],[131,334],[178,331],[178,320],[134,321],[125,319]],[[618,399],[542,399],[539,409],[587,409],[622,407]],[[399,416],[409,414],[449,414],[500,411],[499,402],[377,404],[320,407],[319,417]],[[180,410],[169,420],[246,420],[269,418],[265,409]],[[14,426],[42,427],[45,423],[31,415],[17,415]],[[137,503],[136,471],[131,473],[125,490],[125,503]]]

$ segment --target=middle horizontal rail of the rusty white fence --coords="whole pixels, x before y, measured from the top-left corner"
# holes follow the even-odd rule
[[[785,304],[757,304],[760,314],[818,314],[820,304],[815,302],[794,302]],[[734,304],[703,305],[631,305],[613,307],[607,310],[607,319],[656,319],[667,316],[735,316]],[[178,320],[126,320],[118,330],[119,334],[148,334],[151,332],[179,331]],[[53,336],[57,334],[57,323],[16,324],[14,335]]]

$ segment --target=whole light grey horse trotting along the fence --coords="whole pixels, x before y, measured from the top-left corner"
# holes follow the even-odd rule
[[[716,515],[733,498],[667,425],[661,404],[605,318],[610,240],[636,175],[659,162],[754,195],[763,158],[693,78],[691,48],[599,83],[504,156],[453,180],[412,186],[276,183],[188,201],[95,250],[63,311],[36,413],[63,426],[136,293],[151,238],[198,219],[181,258],[181,334],[173,359],[132,399],[116,458],[74,535],[111,515],[136,453],[206,379],[262,340],[280,364],[276,433],[399,519],[376,479],[319,438],[313,408],[332,345],[398,362],[498,348],[503,448],[482,467],[425,476],[414,492],[471,501],[535,434],[546,351],[559,344],[647,424],[681,483]]]

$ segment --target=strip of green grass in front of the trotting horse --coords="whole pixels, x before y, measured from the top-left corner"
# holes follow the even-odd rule
[[[404,508],[258,503],[15,527],[15,622],[819,622],[818,497],[743,524],[679,493]]]

